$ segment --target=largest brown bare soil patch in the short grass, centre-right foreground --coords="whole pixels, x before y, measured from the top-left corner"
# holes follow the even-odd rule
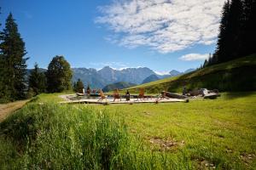
[[[183,146],[185,144],[183,140],[178,142],[174,139],[161,139],[160,137],[154,137],[152,139],[149,139],[149,142],[151,144],[158,145],[160,147],[160,150],[172,150],[178,146]]]

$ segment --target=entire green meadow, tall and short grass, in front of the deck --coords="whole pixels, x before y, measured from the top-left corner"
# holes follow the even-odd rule
[[[138,105],[40,94],[0,123],[0,169],[254,169],[256,93]]]

